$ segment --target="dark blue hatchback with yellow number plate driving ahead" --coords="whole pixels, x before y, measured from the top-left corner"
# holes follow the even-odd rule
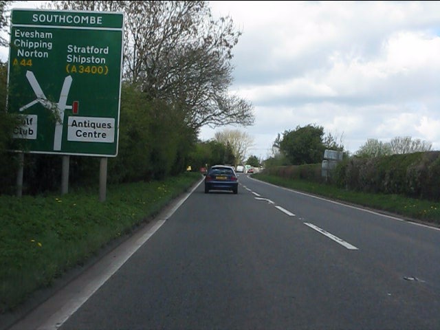
[[[239,178],[232,166],[214,165],[206,173],[205,193],[210,190],[231,190],[234,194],[239,192]]]

